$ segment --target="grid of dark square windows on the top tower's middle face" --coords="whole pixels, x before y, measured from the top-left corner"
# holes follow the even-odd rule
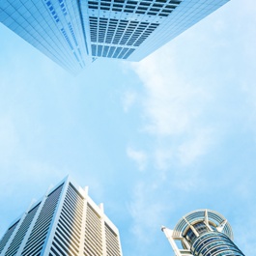
[[[89,0],[92,55],[127,59],[160,24],[157,19],[149,21],[143,16],[167,17],[181,2],[182,0]],[[115,14],[122,14],[122,18],[116,18]],[[123,14],[135,14],[136,18]]]

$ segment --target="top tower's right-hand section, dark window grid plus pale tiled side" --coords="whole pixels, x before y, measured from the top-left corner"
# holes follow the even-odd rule
[[[81,0],[90,52],[140,61],[229,0]]]

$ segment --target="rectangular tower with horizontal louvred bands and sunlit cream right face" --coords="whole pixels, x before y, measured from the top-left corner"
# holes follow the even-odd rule
[[[10,225],[1,256],[122,256],[119,232],[68,177]]]

